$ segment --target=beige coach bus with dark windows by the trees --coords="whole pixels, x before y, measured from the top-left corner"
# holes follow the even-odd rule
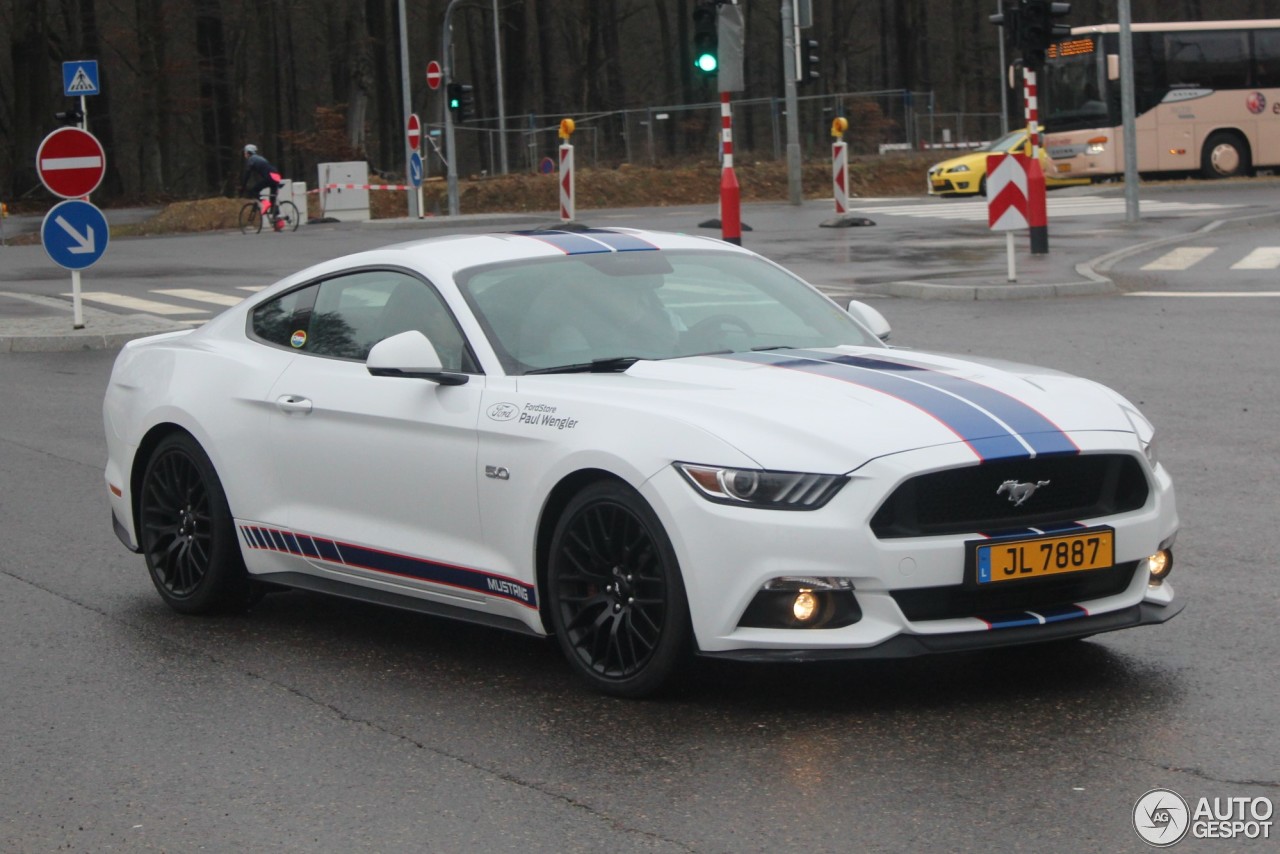
[[[1133,54],[1139,172],[1280,165],[1280,18],[1133,24]],[[1124,174],[1119,26],[1052,45],[1038,95],[1053,177]]]

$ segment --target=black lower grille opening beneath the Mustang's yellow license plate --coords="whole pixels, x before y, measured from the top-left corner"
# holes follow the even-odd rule
[[[1101,599],[1125,590],[1138,561],[1107,570],[1036,581],[997,581],[983,588],[945,586],[891,590],[890,595],[911,622],[975,617],[1010,611],[1037,611]],[[988,589],[991,588],[991,589]]]

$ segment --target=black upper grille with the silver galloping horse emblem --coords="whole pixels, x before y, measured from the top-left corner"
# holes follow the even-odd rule
[[[1015,506],[997,492],[1006,480],[1048,483]],[[876,511],[872,531],[893,539],[1038,528],[1138,510],[1148,494],[1142,465],[1126,455],[997,460],[906,480]]]

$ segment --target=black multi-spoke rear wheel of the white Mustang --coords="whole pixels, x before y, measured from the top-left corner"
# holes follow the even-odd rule
[[[142,553],[160,598],[179,613],[243,609],[252,588],[214,463],[186,433],[156,446],[142,475]]]

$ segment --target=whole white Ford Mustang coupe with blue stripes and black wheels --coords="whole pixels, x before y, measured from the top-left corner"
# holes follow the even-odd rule
[[[703,237],[352,255],[124,347],[115,531],[183,613],[320,590],[554,635],[628,697],[692,653],[901,657],[1181,609],[1132,403],[887,332]]]

